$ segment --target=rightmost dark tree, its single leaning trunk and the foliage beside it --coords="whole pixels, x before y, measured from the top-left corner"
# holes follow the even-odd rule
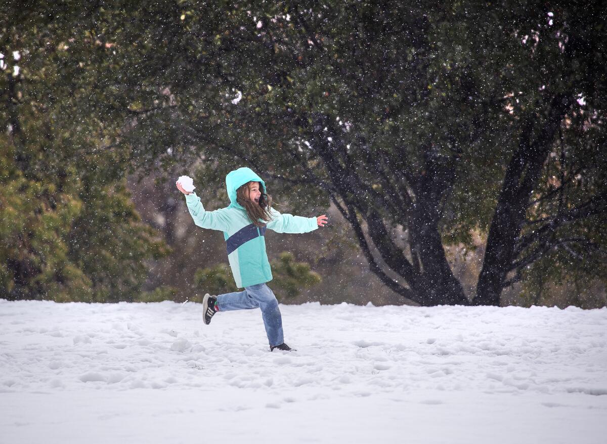
[[[553,278],[572,268],[607,275],[605,12],[600,2],[525,6],[498,16],[531,69],[519,93],[527,99],[510,104],[517,146],[489,229],[479,304],[498,304],[532,266]]]

